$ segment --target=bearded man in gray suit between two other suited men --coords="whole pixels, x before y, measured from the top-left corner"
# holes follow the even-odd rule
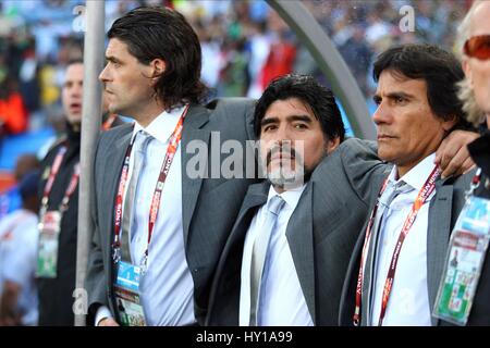
[[[267,181],[248,188],[219,262],[207,324],[334,325],[351,250],[384,166],[368,142],[343,141],[333,95],[310,76],[269,85],[254,124]],[[278,197],[284,202],[262,240]]]

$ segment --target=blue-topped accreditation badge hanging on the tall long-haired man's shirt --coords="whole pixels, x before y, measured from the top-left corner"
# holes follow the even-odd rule
[[[122,326],[146,326],[145,312],[139,297],[142,269],[120,261],[114,284],[115,307]]]

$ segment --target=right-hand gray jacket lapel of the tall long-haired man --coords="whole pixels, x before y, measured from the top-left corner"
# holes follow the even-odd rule
[[[203,184],[203,175],[198,178],[191,178],[187,176],[187,162],[197,153],[187,153],[186,149],[192,140],[206,144],[209,149],[209,136],[211,132],[201,129],[201,127],[209,121],[209,111],[199,105],[192,105],[184,120],[184,128],[182,132],[181,142],[181,158],[182,158],[182,223],[184,228],[184,243],[187,245],[188,228],[191,220],[196,208],[197,198],[199,196],[200,186]],[[208,162],[208,153],[206,151],[206,162]],[[208,170],[208,163],[205,169]],[[203,173],[207,175],[207,173]]]

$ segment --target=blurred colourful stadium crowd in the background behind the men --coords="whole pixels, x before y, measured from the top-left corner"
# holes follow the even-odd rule
[[[0,125],[3,134],[54,126],[62,132],[61,74],[82,57],[81,0],[0,2]],[[426,41],[451,48],[469,0],[305,0],[329,34],[363,92],[370,98],[373,58],[397,42]],[[265,1],[107,0],[106,26],[142,4],[183,12],[203,42],[203,78],[215,96],[257,98],[290,72],[328,84],[291,28]],[[415,32],[402,33],[400,9],[414,8]]]

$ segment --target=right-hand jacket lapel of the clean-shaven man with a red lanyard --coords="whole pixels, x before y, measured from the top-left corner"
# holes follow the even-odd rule
[[[439,282],[444,268],[448,240],[451,234],[452,204],[453,186],[441,185],[437,187],[437,194],[430,202],[427,228],[427,286],[430,311],[432,311],[436,302]],[[431,321],[432,325],[437,325],[438,319],[432,316]]]

